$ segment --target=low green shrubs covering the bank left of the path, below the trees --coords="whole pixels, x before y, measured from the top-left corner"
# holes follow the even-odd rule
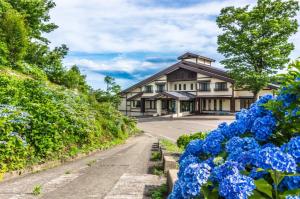
[[[0,122],[0,141],[6,142],[0,145],[4,171],[106,148],[135,130],[135,122],[108,103],[18,75],[0,74],[0,104],[13,105],[17,113],[29,115],[23,126],[11,122],[18,120],[17,114]],[[18,136],[9,136],[11,132]]]

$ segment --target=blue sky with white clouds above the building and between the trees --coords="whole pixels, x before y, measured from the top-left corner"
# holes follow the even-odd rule
[[[105,88],[112,76],[122,89],[176,63],[193,52],[216,60],[216,17],[223,7],[254,0],[54,0],[51,21],[59,26],[48,34],[51,47],[66,44],[67,67],[78,65],[94,89]],[[300,0],[299,0],[300,1]],[[300,14],[297,17],[300,22]],[[291,38],[300,56],[300,32]]]

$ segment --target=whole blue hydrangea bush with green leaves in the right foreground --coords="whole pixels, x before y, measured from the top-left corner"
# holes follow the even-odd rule
[[[300,64],[293,66],[276,97],[188,144],[169,199],[300,198]]]

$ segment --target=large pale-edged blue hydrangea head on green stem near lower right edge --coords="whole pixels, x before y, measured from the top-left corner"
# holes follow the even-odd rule
[[[256,166],[263,169],[272,169],[281,172],[295,173],[296,162],[294,158],[284,153],[278,147],[266,147],[257,153]]]

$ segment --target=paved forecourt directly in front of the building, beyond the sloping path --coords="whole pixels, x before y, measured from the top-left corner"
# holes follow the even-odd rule
[[[141,118],[138,127],[156,137],[176,141],[180,135],[215,129],[222,122],[232,122],[234,116],[188,116],[182,118]]]

